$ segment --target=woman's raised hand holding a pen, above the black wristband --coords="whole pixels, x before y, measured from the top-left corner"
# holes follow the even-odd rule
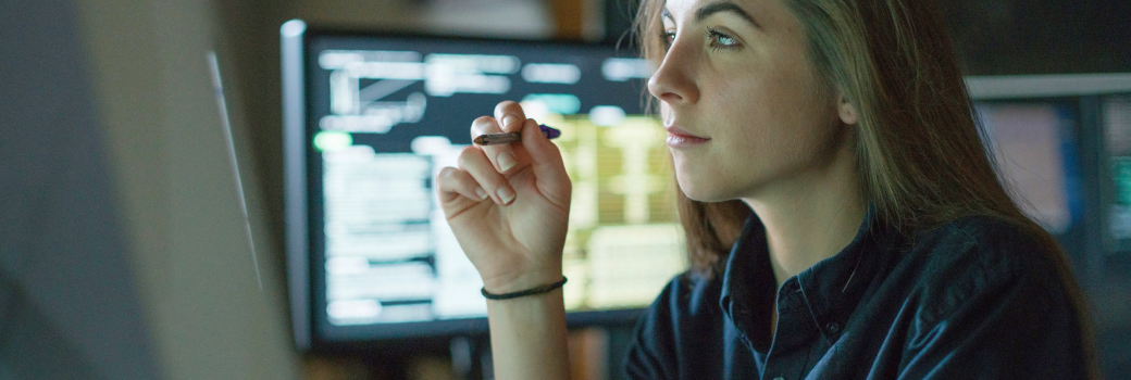
[[[508,293],[561,280],[571,185],[558,145],[517,103],[500,103],[494,116],[475,120],[472,138],[521,131],[521,143],[467,147],[435,183],[484,288]]]

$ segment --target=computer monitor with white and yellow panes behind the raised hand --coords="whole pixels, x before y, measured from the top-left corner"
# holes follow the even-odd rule
[[[282,27],[288,286],[296,343],[486,330],[478,274],[437,203],[501,100],[562,131],[573,325],[636,320],[687,267],[653,69],[610,45]]]

